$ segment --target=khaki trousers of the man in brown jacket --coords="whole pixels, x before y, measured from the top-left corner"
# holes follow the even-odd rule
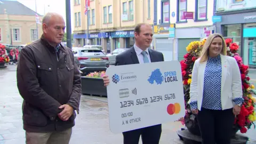
[[[61,132],[26,132],[26,144],[68,144],[72,128]]]

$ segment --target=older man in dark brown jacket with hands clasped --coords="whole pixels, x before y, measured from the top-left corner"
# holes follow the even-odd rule
[[[20,52],[17,85],[27,144],[69,143],[79,114],[81,76],[71,50],[62,46],[65,21],[47,13],[43,35]]]

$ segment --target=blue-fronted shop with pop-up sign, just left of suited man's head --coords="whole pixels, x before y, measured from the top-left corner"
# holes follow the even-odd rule
[[[130,48],[134,45],[134,30],[113,31],[110,33],[114,49]]]

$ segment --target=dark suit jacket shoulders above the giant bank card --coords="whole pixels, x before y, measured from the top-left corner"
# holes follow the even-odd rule
[[[151,62],[164,61],[164,55],[162,52],[148,49]],[[134,47],[131,47],[130,50],[127,50],[121,54],[116,55],[115,66],[121,65],[132,65],[139,63],[137,54]]]

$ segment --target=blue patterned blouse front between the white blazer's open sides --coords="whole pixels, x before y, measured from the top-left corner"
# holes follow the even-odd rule
[[[204,72],[202,107],[221,110],[221,58],[220,55],[207,61]]]

